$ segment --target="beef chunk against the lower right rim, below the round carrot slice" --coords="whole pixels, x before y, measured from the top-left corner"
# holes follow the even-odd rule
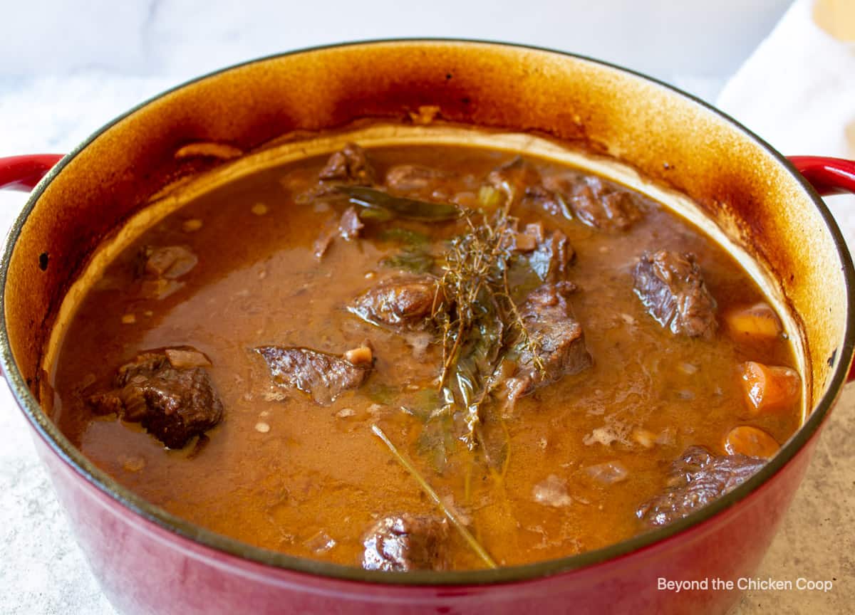
[[[716,456],[693,446],[671,466],[662,495],[635,512],[647,525],[666,525],[726,494],[763,467],[765,460],[742,454]]]

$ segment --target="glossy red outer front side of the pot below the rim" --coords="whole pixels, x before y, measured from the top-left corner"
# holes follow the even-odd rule
[[[357,583],[260,565],[162,530],[80,477],[37,438],[92,571],[127,615],[273,613],[726,612],[740,597],[799,486],[818,437],[738,505],[632,554],[522,583],[411,587]],[[659,579],[708,579],[675,593]],[[734,589],[712,589],[713,579]],[[743,588],[744,589],[744,588]]]

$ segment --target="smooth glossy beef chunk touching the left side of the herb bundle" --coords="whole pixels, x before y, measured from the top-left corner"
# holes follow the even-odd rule
[[[401,276],[366,290],[348,306],[373,325],[394,331],[424,331],[430,323],[438,284],[430,276]]]

